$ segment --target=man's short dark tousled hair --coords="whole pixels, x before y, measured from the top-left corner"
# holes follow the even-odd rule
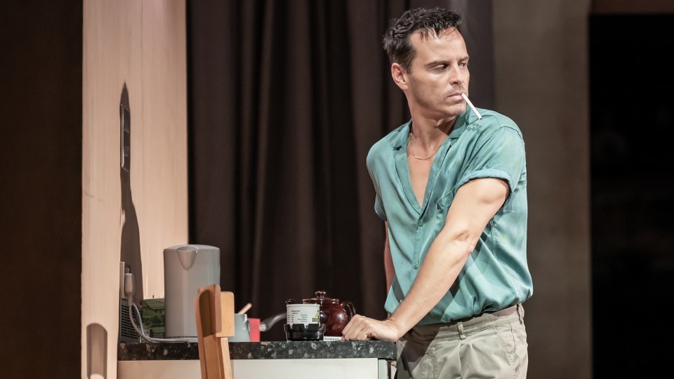
[[[391,64],[401,65],[405,71],[411,72],[412,60],[416,55],[414,46],[409,40],[417,30],[421,36],[430,33],[439,36],[440,32],[454,28],[461,32],[461,16],[444,8],[414,8],[403,13],[399,18],[392,18],[384,33],[384,50]]]

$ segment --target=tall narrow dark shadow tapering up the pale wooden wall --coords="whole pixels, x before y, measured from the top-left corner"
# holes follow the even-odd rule
[[[126,83],[121,89],[119,99],[119,128],[121,153],[119,179],[121,182],[121,215],[124,225],[121,227],[120,260],[125,262],[133,273],[133,302],[143,300],[143,262],[140,260],[140,231],[136,207],[131,197],[131,111],[128,105]]]

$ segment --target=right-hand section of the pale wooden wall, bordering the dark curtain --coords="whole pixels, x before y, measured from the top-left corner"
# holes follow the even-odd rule
[[[146,298],[164,297],[164,248],[187,244],[185,2],[143,1],[143,213]],[[145,265],[145,262],[152,262]]]

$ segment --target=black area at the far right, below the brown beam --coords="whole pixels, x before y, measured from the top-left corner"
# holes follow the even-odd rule
[[[662,54],[674,50],[673,22],[590,17],[595,378],[670,371],[674,331],[660,319],[674,311],[674,76]],[[642,343],[616,360],[629,335]]]

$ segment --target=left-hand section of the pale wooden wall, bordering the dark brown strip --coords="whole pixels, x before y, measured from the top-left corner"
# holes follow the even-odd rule
[[[126,81],[134,134],[143,114],[138,1],[84,1],[82,104],[82,376],[86,326],[107,331],[107,374],[117,376],[119,246],[119,97]],[[132,150],[138,139],[132,138]],[[134,174],[132,168],[132,175]],[[136,171],[138,172],[138,171]],[[132,176],[131,182],[137,180]]]

